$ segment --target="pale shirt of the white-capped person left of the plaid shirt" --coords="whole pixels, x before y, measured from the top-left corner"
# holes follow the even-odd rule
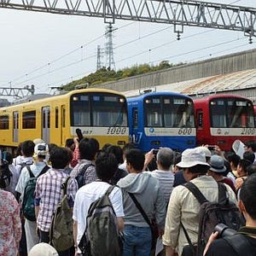
[[[31,172],[34,175],[34,177],[38,177],[40,172],[43,170],[44,166],[46,166],[46,164],[44,162],[41,162],[41,161],[36,162],[36,163],[34,163],[30,166]],[[21,201],[23,199],[24,189],[26,187],[26,183],[29,180],[29,178],[30,178],[30,175],[29,175],[29,172],[28,172],[28,170],[25,166],[20,172],[19,181],[18,181],[16,189],[15,189],[17,192],[19,192],[21,194],[20,195],[20,200]]]

